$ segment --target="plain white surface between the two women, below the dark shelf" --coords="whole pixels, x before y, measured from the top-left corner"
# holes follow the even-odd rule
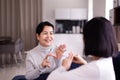
[[[55,34],[55,45],[66,44],[67,52],[73,52],[83,56],[83,35],[82,34]]]

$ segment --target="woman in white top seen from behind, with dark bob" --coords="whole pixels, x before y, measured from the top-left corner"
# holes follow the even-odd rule
[[[118,46],[111,22],[104,17],[91,19],[83,27],[83,39],[84,53],[92,61],[68,71],[72,61],[80,61],[70,53],[47,80],[115,80],[112,57],[117,55]]]

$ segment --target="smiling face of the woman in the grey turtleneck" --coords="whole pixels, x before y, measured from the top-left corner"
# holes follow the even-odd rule
[[[40,35],[37,34],[37,40],[43,47],[52,45],[54,39],[54,32],[51,26],[45,26]]]

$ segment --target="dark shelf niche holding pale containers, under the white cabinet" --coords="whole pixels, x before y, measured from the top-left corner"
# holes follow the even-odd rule
[[[87,20],[56,20],[55,33],[80,34]]]

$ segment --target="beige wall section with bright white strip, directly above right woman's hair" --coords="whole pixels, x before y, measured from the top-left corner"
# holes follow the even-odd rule
[[[113,8],[113,0],[93,0],[93,17],[110,17],[110,9]]]

